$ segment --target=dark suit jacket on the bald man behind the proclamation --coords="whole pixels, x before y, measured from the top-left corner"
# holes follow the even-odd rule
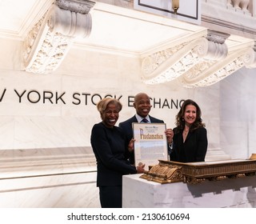
[[[158,118],[154,118],[150,116],[150,122],[151,123],[164,123],[162,120]],[[138,123],[138,120],[136,116],[127,119],[125,122],[120,122],[119,127],[122,129],[122,132],[126,135],[127,142],[130,142],[130,139],[134,138],[134,133],[133,133],[133,126],[132,123]],[[130,163],[134,164],[134,152],[130,154]]]

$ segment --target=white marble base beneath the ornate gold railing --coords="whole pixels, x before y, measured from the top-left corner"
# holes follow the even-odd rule
[[[123,176],[124,208],[256,207],[255,176],[193,185],[159,184],[139,178],[140,175]]]

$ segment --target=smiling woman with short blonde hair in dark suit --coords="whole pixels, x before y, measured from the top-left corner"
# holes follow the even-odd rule
[[[144,166],[130,165],[133,142],[128,144],[120,128],[114,126],[122,104],[114,98],[103,98],[97,109],[102,122],[93,126],[90,142],[97,161],[99,198],[102,208],[121,208],[122,175],[143,173]]]

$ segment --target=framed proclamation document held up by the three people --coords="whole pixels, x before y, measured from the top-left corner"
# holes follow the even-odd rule
[[[135,166],[158,164],[158,159],[168,160],[165,123],[133,123]]]

